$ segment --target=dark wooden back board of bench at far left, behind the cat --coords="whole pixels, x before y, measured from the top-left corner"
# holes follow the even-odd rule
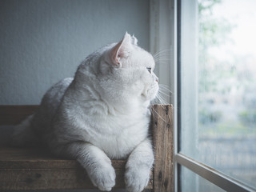
[[[38,106],[0,106],[0,125],[16,125],[36,110]]]

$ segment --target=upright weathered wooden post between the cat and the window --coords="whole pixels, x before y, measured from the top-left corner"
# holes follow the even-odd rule
[[[152,110],[154,142],[154,191],[174,191],[173,108],[156,105]]]

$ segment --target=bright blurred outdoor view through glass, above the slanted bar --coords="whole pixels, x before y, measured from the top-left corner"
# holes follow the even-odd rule
[[[198,159],[256,187],[256,1],[198,0]]]

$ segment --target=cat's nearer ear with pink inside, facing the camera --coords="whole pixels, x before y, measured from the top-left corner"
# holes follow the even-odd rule
[[[112,48],[110,51],[110,58],[114,66],[122,66],[122,59],[127,58],[130,54],[133,44],[132,42],[134,42],[133,38],[126,32],[122,41],[118,42],[118,44]]]

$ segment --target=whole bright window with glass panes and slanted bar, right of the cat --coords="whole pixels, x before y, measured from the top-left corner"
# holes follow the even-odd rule
[[[176,7],[178,190],[256,190],[256,2]]]

